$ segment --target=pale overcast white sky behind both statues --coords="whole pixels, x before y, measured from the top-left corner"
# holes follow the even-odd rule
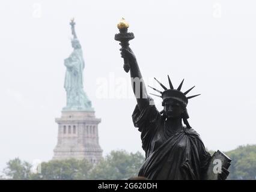
[[[72,17],[84,51],[85,91],[102,118],[105,155],[142,152],[131,118],[136,100],[114,40],[121,17],[135,34],[130,47],[147,85],[160,89],[157,77],[167,86],[169,74],[176,87],[185,79],[181,91],[196,85],[190,95],[202,94],[189,100],[187,110],[208,149],[255,144],[255,10],[253,0],[1,1],[0,169],[15,157],[53,157],[55,118],[66,105]]]

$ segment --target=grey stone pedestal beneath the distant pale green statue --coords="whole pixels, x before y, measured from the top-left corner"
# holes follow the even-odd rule
[[[58,143],[53,150],[53,160],[76,158],[97,163],[102,158],[99,145],[98,124],[101,119],[91,111],[62,111],[58,123]]]

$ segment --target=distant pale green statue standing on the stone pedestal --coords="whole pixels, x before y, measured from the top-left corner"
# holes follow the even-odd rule
[[[63,110],[93,110],[91,101],[84,92],[83,86],[83,70],[85,68],[82,47],[79,43],[75,32],[74,19],[70,25],[72,29],[73,39],[71,41],[73,52],[69,58],[64,60],[64,65],[67,67],[64,88],[67,92],[67,106]]]

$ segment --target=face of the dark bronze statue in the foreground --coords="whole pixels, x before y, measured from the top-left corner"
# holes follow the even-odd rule
[[[180,102],[172,99],[165,101],[165,114],[167,118],[178,118],[184,112],[184,107]]]

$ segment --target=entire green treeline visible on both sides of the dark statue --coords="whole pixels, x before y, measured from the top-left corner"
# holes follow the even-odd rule
[[[233,160],[228,179],[256,179],[256,145],[239,146],[225,154]],[[140,152],[112,151],[94,166],[75,159],[44,162],[38,174],[31,172],[31,164],[15,158],[8,161],[4,173],[9,179],[128,179],[138,174],[143,162]]]

